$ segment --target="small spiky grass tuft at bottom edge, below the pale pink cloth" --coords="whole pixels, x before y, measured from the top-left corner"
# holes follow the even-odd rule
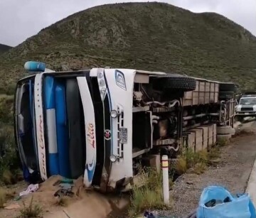
[[[38,205],[33,205],[33,197],[28,206],[23,203],[23,208],[20,211],[18,218],[38,218],[42,217],[43,210]]]

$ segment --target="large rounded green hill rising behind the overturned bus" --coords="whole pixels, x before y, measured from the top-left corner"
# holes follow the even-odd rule
[[[256,38],[216,13],[161,3],[80,11],[0,57],[0,87],[24,75],[27,60],[55,70],[130,67],[233,81],[256,89]]]

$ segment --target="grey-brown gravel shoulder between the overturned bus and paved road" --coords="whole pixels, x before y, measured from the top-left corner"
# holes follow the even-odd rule
[[[256,132],[256,123],[245,124],[242,129]],[[256,156],[256,134],[242,133],[221,149],[221,161],[201,175],[185,174],[174,183],[170,197],[174,207],[161,211],[165,216],[183,217],[198,207],[203,188],[208,185],[223,185],[230,192],[245,192],[252,165]]]

